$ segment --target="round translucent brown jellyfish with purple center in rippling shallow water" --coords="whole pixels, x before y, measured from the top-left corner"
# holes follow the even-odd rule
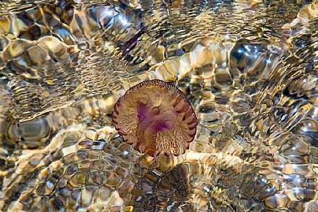
[[[186,96],[175,85],[158,79],[127,90],[116,102],[112,118],[125,142],[152,157],[184,154],[198,124]]]

